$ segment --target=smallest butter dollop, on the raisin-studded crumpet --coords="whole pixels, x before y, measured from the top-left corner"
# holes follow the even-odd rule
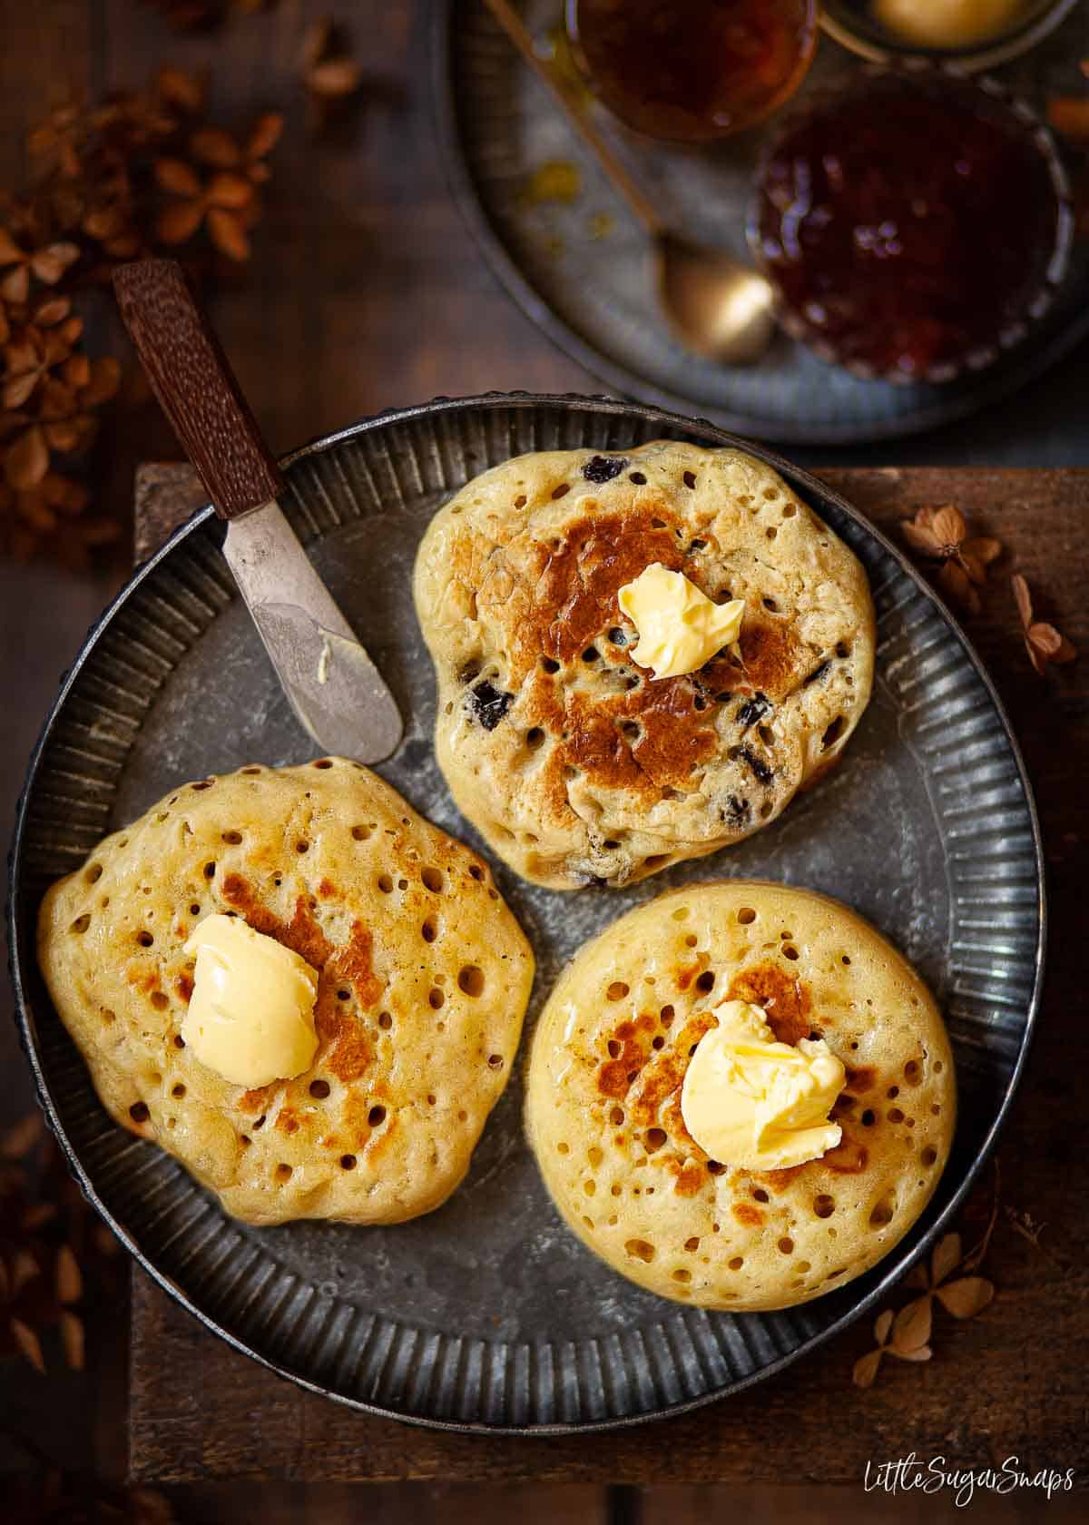
[[[631,660],[654,677],[695,673],[741,633],[743,599],[714,604],[683,572],[670,572],[660,561],[625,583],[618,599],[639,633]]]

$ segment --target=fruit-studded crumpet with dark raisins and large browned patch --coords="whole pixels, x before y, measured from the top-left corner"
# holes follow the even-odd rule
[[[618,592],[647,566],[744,599],[740,656],[656,680]],[[738,450],[517,456],[433,518],[415,596],[439,766],[525,878],[624,884],[750,836],[842,755],[874,612],[848,547]]]

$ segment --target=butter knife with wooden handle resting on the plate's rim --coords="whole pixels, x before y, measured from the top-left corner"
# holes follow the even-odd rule
[[[284,477],[174,259],[113,276],[117,307],[174,433],[220,518],[223,554],[291,709],[322,752],[380,762],[403,724],[278,499]]]

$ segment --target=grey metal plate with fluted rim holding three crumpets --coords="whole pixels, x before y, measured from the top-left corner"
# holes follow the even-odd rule
[[[654,438],[737,442],[633,404],[514,395],[384,415],[285,462],[288,517],[406,717],[404,741],[380,772],[477,849],[432,752],[432,665],[410,596],[419,535],[451,491],[511,454]],[[1040,848],[1017,749],[978,660],[920,576],[813,477],[767,459],[853,546],[874,590],[877,682],[843,761],[749,842],[634,889],[557,894],[502,866],[497,881],[538,958],[526,1039],[587,936],[673,884],[731,875],[848,901],[932,985],[962,1098],[950,1165],[880,1267],[793,1312],[708,1315],[598,1263],[561,1225],[529,1156],[520,1066],[465,1183],[438,1212],[390,1229],[247,1228],[172,1159],[114,1127],[37,974],[44,888],[180,781],[300,762],[311,744],[233,590],[210,509],[134,576],[69,674],[32,759],[12,854],[27,1054],[84,1190],[133,1254],[210,1328],[282,1374],[398,1418],[506,1432],[610,1426],[708,1401],[869,1307],[949,1222],[990,1148],[1042,971]]]

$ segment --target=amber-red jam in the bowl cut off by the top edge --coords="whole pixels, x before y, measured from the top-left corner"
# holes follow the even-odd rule
[[[700,143],[767,116],[801,82],[814,0],[569,0],[596,95],[648,137]]]

